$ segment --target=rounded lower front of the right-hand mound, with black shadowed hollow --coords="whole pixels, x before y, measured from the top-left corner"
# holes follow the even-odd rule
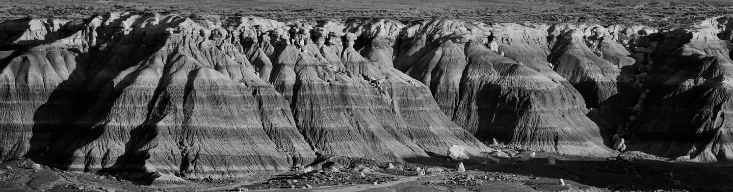
[[[474,98],[461,100],[462,103],[473,101],[479,107],[476,112],[468,112],[476,113],[476,118],[465,121],[468,125],[478,121],[476,137],[496,138],[507,146],[553,153],[614,155],[603,145],[600,128],[586,118],[583,98],[567,83],[553,80],[480,45],[468,46],[467,53],[470,62],[464,82],[472,82],[468,77],[483,74],[473,71],[485,68],[482,65],[486,64],[482,63],[490,63],[496,70],[496,77],[485,77],[484,80],[490,82],[465,86],[479,88],[474,90],[477,91]],[[464,94],[474,92],[464,91]],[[461,111],[457,110],[455,119],[463,116]]]

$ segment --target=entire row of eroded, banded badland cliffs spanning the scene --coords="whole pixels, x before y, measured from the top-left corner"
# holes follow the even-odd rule
[[[0,24],[0,160],[154,185],[326,155],[496,162],[485,144],[733,161],[731,21],[12,20]]]

